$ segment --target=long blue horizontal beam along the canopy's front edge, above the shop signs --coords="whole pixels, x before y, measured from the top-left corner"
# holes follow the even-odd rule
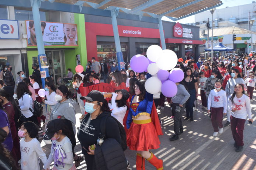
[[[31,6],[31,4],[28,0],[18,0],[18,1],[17,0],[0,0],[0,5],[23,7],[23,8],[28,8]],[[80,12],[79,8],[76,5],[57,3],[57,2],[50,3],[49,1],[41,2],[40,9],[111,17],[111,12],[109,10],[103,10],[103,9],[96,10],[91,7],[83,7]],[[158,19],[156,19],[156,18],[152,18],[149,16],[143,16],[142,19],[139,20],[138,15],[126,14],[124,12],[120,12],[120,14],[118,14],[117,18],[134,20],[134,21],[150,22],[150,23],[158,23]]]

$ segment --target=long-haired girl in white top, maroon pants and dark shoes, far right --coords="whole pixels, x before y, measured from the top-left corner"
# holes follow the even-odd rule
[[[243,84],[235,85],[235,92],[230,95],[228,100],[228,109],[231,111],[231,131],[235,140],[234,147],[236,152],[243,149],[243,129],[245,120],[249,118],[249,122],[253,122],[252,110],[250,107],[250,99],[245,95]]]

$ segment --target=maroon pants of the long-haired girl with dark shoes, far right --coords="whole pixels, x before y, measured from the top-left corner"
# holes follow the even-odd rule
[[[235,143],[243,146],[243,129],[245,127],[245,119],[238,119],[230,116],[230,126]]]

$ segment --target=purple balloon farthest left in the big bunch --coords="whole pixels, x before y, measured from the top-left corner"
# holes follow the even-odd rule
[[[147,70],[149,60],[145,56],[137,54],[131,58],[130,66],[135,72],[142,73],[143,71]]]

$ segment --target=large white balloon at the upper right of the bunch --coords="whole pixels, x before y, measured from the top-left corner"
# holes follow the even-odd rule
[[[164,49],[161,52],[161,56],[157,59],[156,65],[162,70],[171,70],[177,65],[177,62],[176,53],[170,49]]]

